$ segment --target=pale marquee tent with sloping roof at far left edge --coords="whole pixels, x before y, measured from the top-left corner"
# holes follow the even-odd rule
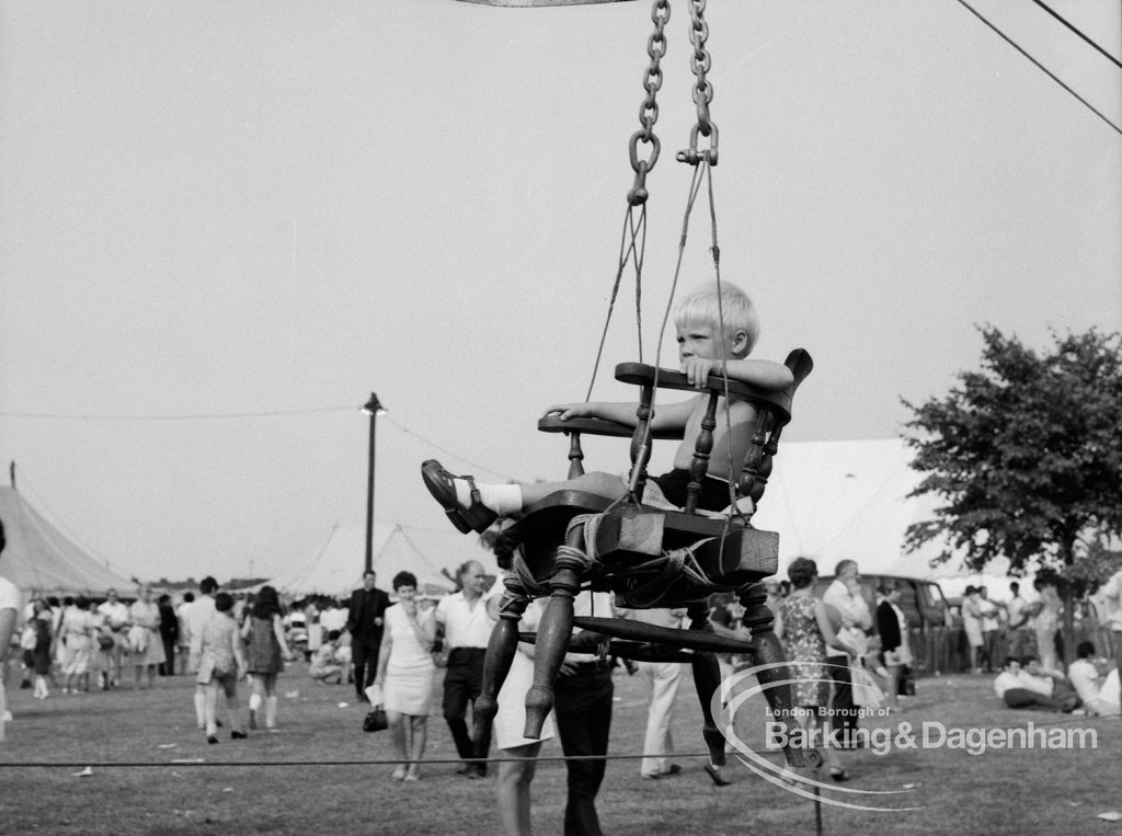
[[[0,486],[0,520],[8,540],[0,576],[24,595],[104,595],[134,586],[58,533],[15,488]]]

